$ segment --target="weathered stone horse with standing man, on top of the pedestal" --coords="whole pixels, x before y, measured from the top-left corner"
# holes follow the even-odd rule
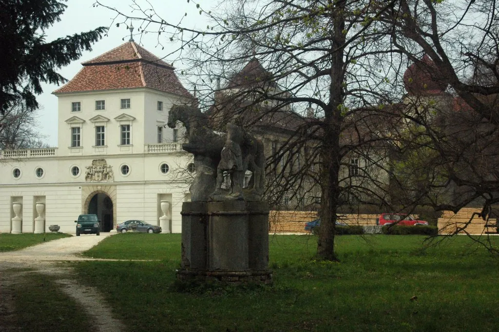
[[[209,126],[206,114],[192,106],[173,105],[168,112],[168,126],[175,128],[177,121],[184,124],[189,140],[188,143],[182,144],[182,148],[194,154],[197,174],[190,188],[193,202],[243,199],[243,196],[251,201],[261,200],[265,183],[265,156],[260,140],[233,124],[228,125],[229,134],[215,132]],[[221,156],[225,154],[222,151],[228,144],[241,151],[240,167],[237,176],[231,176],[229,193],[221,188],[227,164],[221,164]],[[232,170],[232,166],[230,168]],[[252,172],[250,186],[241,195],[240,188],[247,170]]]

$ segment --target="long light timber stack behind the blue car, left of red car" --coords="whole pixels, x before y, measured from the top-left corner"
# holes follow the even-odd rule
[[[338,221],[347,225],[376,225],[375,214],[345,214]],[[304,233],[305,223],[317,219],[315,211],[270,211],[268,217],[270,232]]]

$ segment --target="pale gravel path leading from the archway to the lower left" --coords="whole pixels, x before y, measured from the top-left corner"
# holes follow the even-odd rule
[[[124,325],[114,319],[109,306],[93,287],[83,286],[72,279],[71,269],[61,266],[61,261],[92,260],[82,257],[79,253],[88,250],[108,237],[109,233],[100,236],[82,235],[50,241],[19,251],[6,252],[0,258],[0,332],[21,331],[17,326],[14,311],[14,294],[12,287],[22,280],[24,274],[7,273],[12,268],[29,268],[36,273],[51,275],[56,283],[61,285],[61,291],[75,299],[92,317],[94,331],[122,332]]]

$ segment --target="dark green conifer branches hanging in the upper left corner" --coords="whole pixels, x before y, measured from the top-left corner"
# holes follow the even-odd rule
[[[0,112],[23,102],[38,108],[41,83],[67,80],[57,69],[78,59],[105,33],[105,27],[46,41],[44,31],[60,21],[67,5],[58,0],[2,0],[0,2]]]

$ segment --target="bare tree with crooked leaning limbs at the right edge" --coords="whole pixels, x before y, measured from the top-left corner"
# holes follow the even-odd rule
[[[482,204],[484,218],[499,202],[498,13],[495,1],[401,0],[380,16],[393,47],[442,90],[408,100],[419,139],[406,150],[427,151],[433,165],[421,194],[437,209]]]

